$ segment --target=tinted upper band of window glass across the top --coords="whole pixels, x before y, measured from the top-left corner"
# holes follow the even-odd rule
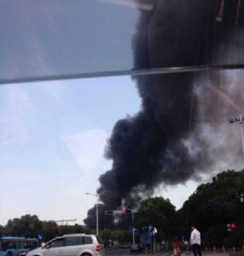
[[[0,82],[241,67],[240,1],[180,2],[4,1]]]

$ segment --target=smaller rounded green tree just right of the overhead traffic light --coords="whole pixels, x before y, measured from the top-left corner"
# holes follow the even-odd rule
[[[147,232],[149,224],[157,228],[158,241],[176,234],[176,209],[169,199],[155,197],[141,201],[135,218],[135,227]]]

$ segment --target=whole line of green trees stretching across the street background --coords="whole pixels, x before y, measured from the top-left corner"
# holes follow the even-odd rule
[[[147,233],[147,226],[152,224],[157,229],[155,239],[161,242],[181,240],[182,237],[188,240],[190,226],[194,224],[201,232],[205,245],[229,247],[244,242],[243,216],[244,169],[239,172],[228,170],[213,177],[211,182],[198,186],[179,210],[169,199],[162,197],[141,201],[131,227],[134,226],[142,234]],[[231,232],[226,226],[229,223],[235,223]],[[57,228],[55,221],[40,221],[36,215],[15,218],[9,220],[6,226],[0,226],[1,236],[34,238],[42,234],[43,241],[66,233],[95,233],[95,230],[78,224]],[[105,243],[132,241],[131,230],[104,228],[100,230],[100,236]]]

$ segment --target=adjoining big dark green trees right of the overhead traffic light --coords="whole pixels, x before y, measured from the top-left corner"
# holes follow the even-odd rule
[[[176,237],[189,239],[192,224],[201,231],[203,242],[212,246],[239,246],[244,242],[244,170],[228,170],[212,182],[200,185],[176,211],[167,199],[150,198],[140,203],[134,225],[145,232],[153,224],[158,241]],[[227,224],[235,223],[231,232]]]

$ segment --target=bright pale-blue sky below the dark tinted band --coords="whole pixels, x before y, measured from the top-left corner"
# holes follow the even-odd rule
[[[0,220],[25,214],[83,224],[115,122],[140,110],[129,76],[0,87]],[[125,100],[126,99],[126,100]],[[197,183],[159,187],[180,208]]]

